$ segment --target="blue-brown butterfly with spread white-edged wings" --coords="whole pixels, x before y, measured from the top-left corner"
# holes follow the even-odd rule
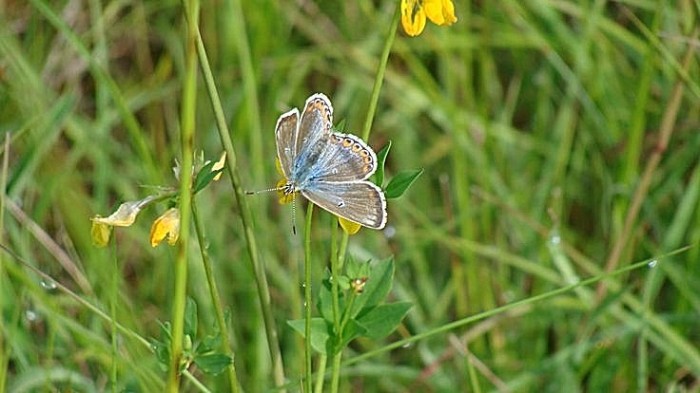
[[[372,229],[386,225],[384,191],[367,179],[377,170],[377,155],[362,139],[334,132],[333,106],[313,94],[304,111],[294,108],[275,127],[277,158],[285,196],[300,192],[308,200],[346,220]]]

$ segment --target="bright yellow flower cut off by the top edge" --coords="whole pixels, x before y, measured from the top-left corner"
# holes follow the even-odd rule
[[[406,34],[415,37],[422,33],[426,17],[438,26],[457,21],[452,0],[401,0],[401,24]]]

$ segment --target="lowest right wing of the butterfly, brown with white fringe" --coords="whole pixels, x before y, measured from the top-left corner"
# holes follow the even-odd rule
[[[301,190],[321,208],[372,229],[386,225],[386,198],[381,188],[368,181],[316,182]]]

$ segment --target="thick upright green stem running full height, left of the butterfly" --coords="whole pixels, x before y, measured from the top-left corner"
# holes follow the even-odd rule
[[[187,256],[189,253],[190,216],[192,213],[192,160],[194,151],[195,115],[197,103],[197,26],[199,1],[183,1],[187,18],[185,41],[185,76],[182,89],[180,148],[180,241],[175,262],[175,289],[172,311],[172,348],[167,391],[179,390],[180,358],[182,357],[185,302],[187,296]]]

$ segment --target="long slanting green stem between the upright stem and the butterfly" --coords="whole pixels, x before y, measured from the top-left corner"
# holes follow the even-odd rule
[[[211,72],[211,67],[209,66],[206,48],[204,47],[204,42],[202,41],[202,37],[199,35],[199,32],[197,33],[197,54],[199,55],[202,75],[204,76],[207,93],[209,94],[209,100],[216,118],[219,139],[221,140],[221,145],[224,147],[224,151],[226,151],[225,171],[229,176],[231,185],[233,186],[233,191],[236,196],[236,204],[238,206],[238,210],[240,211],[240,219],[241,224],[243,225],[243,233],[245,234],[248,256],[250,257],[251,269],[253,270],[255,276],[258,299],[260,301],[260,308],[262,309],[267,345],[270,351],[270,358],[272,359],[273,378],[276,386],[280,387],[285,383],[284,365],[282,363],[282,354],[279,348],[275,320],[270,305],[270,291],[267,283],[267,276],[265,275],[263,262],[258,253],[257,240],[255,238],[255,230],[253,228],[250,208],[246,202],[246,195],[243,191],[243,187],[241,187],[241,180],[238,177],[238,171],[236,169],[236,152],[233,149],[233,142],[231,141],[230,136],[231,134],[228,130],[228,126],[226,125],[226,117],[224,116],[223,106],[221,105],[219,93],[216,89],[216,83],[214,82],[214,76]]]

